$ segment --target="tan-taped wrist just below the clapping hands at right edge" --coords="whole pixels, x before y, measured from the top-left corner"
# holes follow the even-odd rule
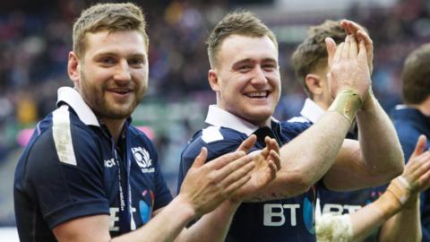
[[[393,179],[390,186],[387,187],[375,202],[385,218],[389,218],[392,214],[399,212],[400,209],[409,201],[409,182],[405,177],[397,177]]]

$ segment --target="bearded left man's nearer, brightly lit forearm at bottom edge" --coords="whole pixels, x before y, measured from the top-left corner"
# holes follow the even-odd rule
[[[141,229],[113,238],[112,241],[173,241],[194,216],[195,212],[190,204],[185,203],[178,195]]]

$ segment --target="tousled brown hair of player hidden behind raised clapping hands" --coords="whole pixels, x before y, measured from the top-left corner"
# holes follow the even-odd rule
[[[326,20],[320,25],[310,27],[306,39],[291,56],[296,77],[305,87],[305,92],[309,97],[311,97],[311,93],[305,84],[305,77],[317,68],[327,66],[328,55],[324,41],[327,37],[334,39],[338,45],[345,41],[347,33],[340,28],[340,21]]]

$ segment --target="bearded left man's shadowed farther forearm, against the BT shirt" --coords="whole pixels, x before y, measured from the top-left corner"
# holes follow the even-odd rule
[[[239,202],[229,200],[221,203],[213,212],[203,215],[193,226],[185,229],[176,241],[224,241],[239,205]]]

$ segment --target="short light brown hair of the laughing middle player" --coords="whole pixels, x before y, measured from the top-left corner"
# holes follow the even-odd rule
[[[267,36],[275,47],[278,48],[278,41],[269,28],[254,13],[249,11],[235,11],[228,13],[215,28],[211,31],[206,40],[208,45],[208,56],[211,66],[217,65],[217,54],[224,39],[230,35],[242,35],[246,37],[264,37]]]

